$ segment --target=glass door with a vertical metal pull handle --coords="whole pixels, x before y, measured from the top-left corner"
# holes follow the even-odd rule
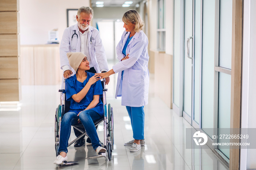
[[[201,1],[184,1],[183,117],[193,127],[200,124]]]

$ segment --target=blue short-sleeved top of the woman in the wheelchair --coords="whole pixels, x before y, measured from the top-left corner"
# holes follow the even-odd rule
[[[102,97],[103,89],[101,81],[97,81],[93,85],[91,85],[86,96],[84,96],[84,98],[79,103],[76,103],[75,100],[71,97],[74,94],[79,93],[84,88],[89,79],[94,76],[94,73],[86,73],[87,78],[86,80],[84,80],[84,82],[78,81],[76,78],[76,74],[74,76],[67,78],[67,80],[65,81],[66,98],[67,101],[71,101],[69,110],[70,112],[75,112],[78,114],[79,112],[86,109],[88,105],[91,103],[91,101],[93,101],[93,95],[100,95],[99,97]],[[91,108],[91,110],[103,116],[103,103],[100,98],[99,103],[94,108]]]

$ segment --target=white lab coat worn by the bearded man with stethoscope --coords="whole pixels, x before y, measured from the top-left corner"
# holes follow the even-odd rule
[[[73,36],[73,42],[71,48],[71,38],[72,35],[75,33],[78,35],[78,38],[76,36]],[[81,52],[81,40],[80,35],[78,32],[78,24],[75,24],[74,26],[70,26],[66,28],[63,32],[63,36],[60,43],[60,67],[68,65],[69,68],[72,70],[74,75],[76,72],[75,70],[69,65],[67,53],[68,52]],[[99,31],[89,26],[89,32],[88,32],[88,40],[89,42],[88,48],[89,48],[89,55],[91,58],[92,65],[97,73],[101,73],[102,69],[108,70],[108,62],[105,54],[104,47],[102,45],[101,37],[99,36]]]

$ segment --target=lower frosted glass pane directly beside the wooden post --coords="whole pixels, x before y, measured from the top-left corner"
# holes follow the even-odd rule
[[[231,103],[231,75],[219,72],[219,95],[218,95],[218,135],[230,134],[230,103]],[[226,128],[226,129],[223,129]],[[230,142],[229,139],[218,139],[219,143]],[[225,146],[227,148],[227,146]],[[218,149],[229,158],[229,149]]]

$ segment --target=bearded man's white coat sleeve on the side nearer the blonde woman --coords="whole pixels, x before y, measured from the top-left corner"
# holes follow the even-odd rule
[[[108,61],[105,53],[105,49],[102,44],[101,37],[99,36],[99,31],[97,30],[97,34],[95,36],[95,55],[96,59],[99,65],[99,70],[102,71],[108,71]]]

